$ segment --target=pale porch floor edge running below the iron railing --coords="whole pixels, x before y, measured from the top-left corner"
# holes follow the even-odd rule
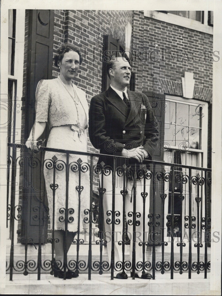
[[[6,275],[6,287],[1,289],[1,294],[11,295],[220,295],[210,291],[210,278],[204,279],[204,274],[192,273],[192,279],[188,274],[175,273],[174,279],[170,279],[170,273],[156,274],[155,280],[127,280],[110,279],[108,274],[92,274],[88,280],[88,274],[80,274],[75,279],[58,279],[50,274],[42,274],[41,280],[37,280],[36,274],[14,274],[13,281],[9,281]]]

